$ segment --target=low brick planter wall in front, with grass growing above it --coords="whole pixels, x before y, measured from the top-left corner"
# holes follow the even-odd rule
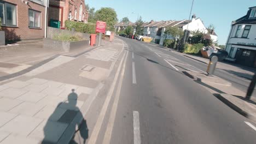
[[[69,42],[69,41],[59,41],[59,40],[53,40],[50,38],[45,38],[43,40],[43,47],[45,49],[55,49],[55,50],[63,50],[63,51],[69,52],[71,50],[78,49],[81,47],[84,47],[84,48],[89,47],[89,40]]]

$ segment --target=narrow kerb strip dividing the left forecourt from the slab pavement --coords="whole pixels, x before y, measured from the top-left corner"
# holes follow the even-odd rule
[[[84,55],[85,53],[87,53],[87,52],[89,52],[91,50],[97,49],[98,47],[101,47],[101,46],[95,46],[95,47],[89,48],[88,50],[86,50],[84,52],[78,53],[75,56],[67,56],[67,57],[74,57],[74,58],[76,58],[76,57]],[[38,68],[38,67],[40,67],[40,66],[42,66],[42,65],[44,65],[44,64],[46,64],[46,63],[48,63],[50,61],[52,61],[53,59],[55,59],[55,58],[57,58],[59,56],[66,56],[66,55],[57,54],[57,55],[52,56],[52,57],[50,57],[48,59],[45,59],[44,61],[39,62],[38,64],[32,65],[31,67],[28,67],[28,68],[26,68],[24,70],[18,71],[16,73],[13,73],[13,74],[10,74],[10,75],[1,76],[0,77],[0,82],[4,82],[4,81],[10,80],[10,79],[14,79],[14,78],[16,78],[18,76],[22,76],[22,75],[32,71],[33,69],[36,69],[36,68]]]

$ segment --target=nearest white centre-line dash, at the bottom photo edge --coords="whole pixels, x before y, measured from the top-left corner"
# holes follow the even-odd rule
[[[133,111],[133,143],[141,144],[141,132],[139,131],[139,113]]]

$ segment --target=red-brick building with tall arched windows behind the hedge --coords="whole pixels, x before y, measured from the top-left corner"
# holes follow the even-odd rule
[[[88,10],[85,8],[84,0],[50,0],[48,12],[48,25],[50,20],[61,22],[65,27],[66,20],[88,22]]]

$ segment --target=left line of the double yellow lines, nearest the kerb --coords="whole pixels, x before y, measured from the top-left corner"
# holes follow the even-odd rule
[[[97,138],[98,138],[98,133],[100,133],[100,129],[101,129],[101,125],[103,123],[103,119],[106,115],[106,112],[107,112],[107,108],[108,108],[108,105],[109,105],[109,101],[113,95],[113,92],[114,92],[114,88],[115,88],[115,85],[117,84],[117,80],[118,80],[118,76],[120,74],[120,70],[121,70],[121,66],[123,65],[123,61],[124,61],[124,58],[125,56],[128,55],[128,52],[126,51],[124,56],[122,57],[121,59],[121,62],[118,66],[118,70],[117,70],[117,73],[115,74],[115,77],[114,77],[114,80],[113,80],[113,83],[108,91],[108,94],[107,94],[107,97],[104,101],[104,104],[102,106],[102,109],[101,109],[101,113],[100,115],[98,116],[98,119],[97,119],[97,122],[94,126],[94,130],[92,130],[92,133],[91,133],[91,136],[90,136],[90,139],[88,141],[88,144],[95,144],[96,141],[97,141]]]

